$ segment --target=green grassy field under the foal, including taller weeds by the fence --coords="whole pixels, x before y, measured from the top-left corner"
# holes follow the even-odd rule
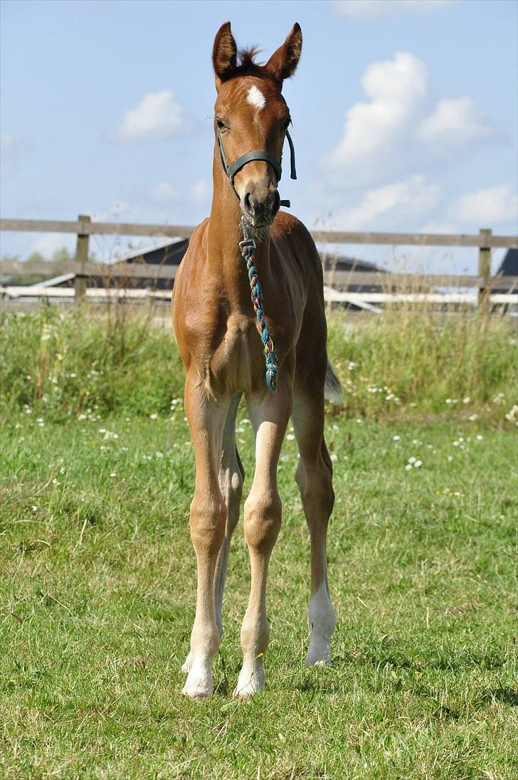
[[[193,455],[172,340],[82,317],[3,325],[0,776],[516,778],[516,345],[505,325],[488,328],[492,347],[477,360],[471,324],[464,359],[458,334],[430,346],[414,323],[407,362],[425,363],[423,378],[397,374],[390,323],[376,363],[379,332],[344,341],[335,321],[349,410],[326,422],[335,662],[303,666],[309,544],[289,433],[267,690],[238,704],[242,528],[215,695],[179,693],[194,608]],[[455,371],[427,374],[438,352]],[[247,487],[244,408],[238,439]]]

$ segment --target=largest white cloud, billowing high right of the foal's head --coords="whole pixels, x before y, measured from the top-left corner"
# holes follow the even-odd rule
[[[361,84],[369,101],[349,108],[341,140],[321,160],[337,185],[388,183],[498,137],[470,97],[431,108],[426,66],[408,51],[372,63]]]

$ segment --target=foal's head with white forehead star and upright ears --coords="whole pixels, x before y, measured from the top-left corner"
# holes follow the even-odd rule
[[[228,165],[248,151],[264,151],[280,163],[289,126],[289,108],[282,97],[282,82],[293,76],[302,48],[298,24],[264,65],[254,62],[254,49],[239,51],[230,23],[215,37],[212,62],[218,97],[215,133],[219,133]],[[233,179],[239,205],[254,228],[271,225],[279,211],[279,172],[264,160],[252,160]]]

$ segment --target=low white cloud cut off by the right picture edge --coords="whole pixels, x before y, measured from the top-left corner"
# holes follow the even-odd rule
[[[467,193],[450,207],[452,217],[469,225],[518,222],[518,195],[507,184]]]

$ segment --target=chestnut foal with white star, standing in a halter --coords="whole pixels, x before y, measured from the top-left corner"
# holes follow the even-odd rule
[[[266,577],[281,526],[277,463],[290,416],[300,451],[295,478],[311,544],[306,662],[330,661],[335,613],[325,546],[334,494],[323,433],[324,392],[339,402],[341,388],[327,360],[320,257],[302,223],[279,212],[277,190],[290,122],[282,81],[293,75],[301,48],[296,24],[266,65],[259,66],[254,51],[240,52],[238,59],[226,23],[212,54],[218,97],[211,216],[190,240],[176,275],[172,308],[196,457],[190,533],[197,557],[197,605],[183,665],[183,693],[189,697],[208,696],[213,688],[211,663],[222,636],[229,544],[243,488],[235,430],[243,393],[254,426],[256,466],[244,505],[251,589],[235,693],[247,697],[264,687]]]

